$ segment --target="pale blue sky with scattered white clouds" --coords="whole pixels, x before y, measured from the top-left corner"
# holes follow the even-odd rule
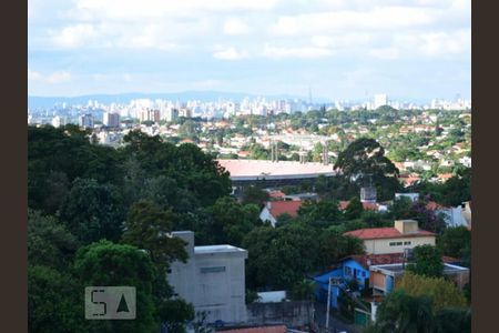
[[[28,93],[471,97],[470,0],[28,0]]]

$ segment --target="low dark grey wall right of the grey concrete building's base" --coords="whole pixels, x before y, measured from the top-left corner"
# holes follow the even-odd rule
[[[284,323],[298,327],[312,322],[314,303],[306,301],[247,304],[247,322],[253,325]]]

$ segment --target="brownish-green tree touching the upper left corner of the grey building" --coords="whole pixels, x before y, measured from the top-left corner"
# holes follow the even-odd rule
[[[147,250],[157,268],[167,268],[175,260],[185,262],[185,242],[170,236],[175,220],[171,210],[141,200],[130,208],[123,242]]]

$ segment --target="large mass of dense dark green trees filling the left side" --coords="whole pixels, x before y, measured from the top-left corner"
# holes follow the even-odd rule
[[[197,147],[141,132],[119,149],[74,125],[29,127],[28,140],[30,332],[183,331],[192,307],[171,299],[164,276],[187,255],[167,234],[213,220],[228,174]],[[139,319],[84,321],[86,285],[136,286]]]

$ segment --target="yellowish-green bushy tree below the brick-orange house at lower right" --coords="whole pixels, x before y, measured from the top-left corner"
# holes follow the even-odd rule
[[[462,292],[451,281],[444,278],[428,278],[406,272],[397,282],[396,290],[411,296],[428,295],[435,312],[446,307],[466,309],[467,301]]]

